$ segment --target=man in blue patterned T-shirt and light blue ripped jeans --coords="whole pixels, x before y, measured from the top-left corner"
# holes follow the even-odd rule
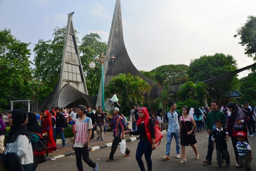
[[[180,132],[180,126],[179,126],[179,117],[180,115],[175,111],[176,109],[176,103],[171,102],[170,104],[170,111],[166,113],[166,119],[168,121],[168,131],[167,131],[167,142],[166,142],[166,153],[164,157],[161,157],[163,160],[169,160],[170,159],[170,148],[171,148],[171,140],[174,136],[175,142],[176,142],[176,153],[177,157],[180,158],[180,138],[179,138],[179,132]]]

